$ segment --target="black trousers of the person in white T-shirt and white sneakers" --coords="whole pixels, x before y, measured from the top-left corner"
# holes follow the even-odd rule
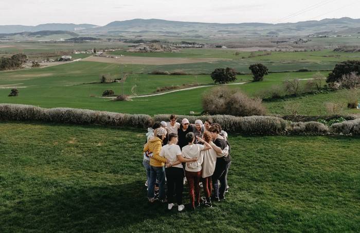
[[[179,167],[165,168],[166,180],[168,183],[168,203],[174,203],[174,187],[176,193],[176,203],[183,203],[184,190],[184,169]]]

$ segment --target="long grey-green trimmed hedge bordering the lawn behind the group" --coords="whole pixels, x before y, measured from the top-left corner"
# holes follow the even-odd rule
[[[122,114],[117,112],[94,111],[75,108],[40,108],[21,104],[0,104],[0,120],[3,121],[42,121],[70,124],[95,124],[127,126],[137,128],[150,127],[154,122],[169,121],[170,115]],[[200,119],[211,119],[219,123],[228,132],[257,135],[283,134],[344,134],[360,135],[360,119],[333,124],[330,128],[320,122],[291,123],[275,116],[232,116],[232,115],[177,115],[181,121],[187,118],[190,123]]]

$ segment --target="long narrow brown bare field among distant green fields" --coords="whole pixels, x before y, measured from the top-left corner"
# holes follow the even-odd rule
[[[123,56],[117,59],[111,57],[89,56],[81,61],[104,62],[114,64],[142,64],[142,65],[173,65],[199,62],[214,62],[227,59],[201,59],[201,58],[179,58],[179,57],[140,57],[140,56]]]

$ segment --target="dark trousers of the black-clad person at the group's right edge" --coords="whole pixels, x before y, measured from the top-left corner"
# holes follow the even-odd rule
[[[214,189],[215,198],[223,198],[227,186],[227,172],[229,170],[231,162],[226,163],[222,158],[218,158],[215,171],[212,174],[212,186]],[[220,181],[220,188],[218,181]]]

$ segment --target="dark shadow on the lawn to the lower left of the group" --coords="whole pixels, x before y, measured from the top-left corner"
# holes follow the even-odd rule
[[[54,195],[23,199],[0,211],[2,232],[106,231],[177,214],[166,203],[149,203],[142,182],[95,187],[63,187]],[[1,210],[1,209],[0,209]]]

